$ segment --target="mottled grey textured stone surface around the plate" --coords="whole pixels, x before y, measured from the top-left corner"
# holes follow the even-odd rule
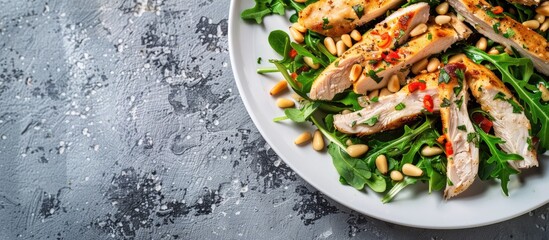
[[[311,188],[244,111],[229,3],[0,0],[0,239],[548,238],[548,206],[433,231]]]

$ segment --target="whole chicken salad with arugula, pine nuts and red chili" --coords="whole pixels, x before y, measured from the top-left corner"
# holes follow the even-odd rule
[[[422,182],[448,199],[478,176],[508,195],[549,149],[549,4],[255,2],[242,19],[293,13],[268,37],[280,59],[257,70],[283,76],[271,95],[294,93],[274,121],[314,124],[295,143],[327,148],[342,184],[389,202]]]

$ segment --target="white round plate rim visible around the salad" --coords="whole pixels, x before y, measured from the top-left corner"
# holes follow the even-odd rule
[[[440,192],[428,194],[424,186],[405,189],[393,202],[381,203],[381,195],[357,191],[339,183],[339,175],[327,153],[318,153],[310,146],[297,147],[293,139],[310,124],[274,123],[284,113],[269,95],[280,74],[259,75],[259,66],[272,67],[268,59],[280,58],[269,46],[267,36],[272,30],[287,30],[287,17],[269,16],[263,25],[246,23],[240,12],[252,7],[251,0],[231,1],[229,16],[229,52],[232,69],[244,105],[253,122],[275,152],[305,181],[358,212],[384,221],[422,228],[468,228],[500,222],[526,213],[549,201],[547,153],[541,168],[531,172],[524,182],[510,185],[510,196],[501,192],[499,183],[477,179],[473,189],[458,198],[445,201]],[[257,64],[257,59],[263,59]],[[421,184],[419,184],[421,185]],[[521,186],[519,186],[521,185]]]

